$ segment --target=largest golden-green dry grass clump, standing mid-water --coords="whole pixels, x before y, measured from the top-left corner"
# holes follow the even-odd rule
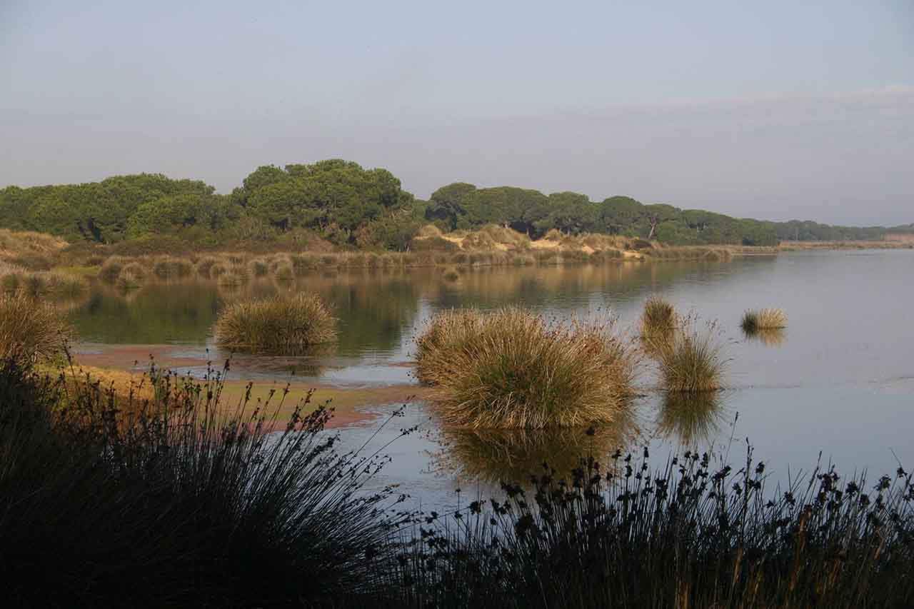
[[[417,373],[442,419],[469,428],[617,420],[635,358],[612,322],[547,322],[519,308],[442,312],[417,340]]]

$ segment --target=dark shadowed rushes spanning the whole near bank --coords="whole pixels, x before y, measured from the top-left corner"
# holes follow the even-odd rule
[[[875,484],[816,469],[772,490],[751,453],[738,468],[686,452],[654,469],[646,450],[616,452],[571,472],[531,463],[527,484],[447,514],[398,512],[391,489],[366,486],[381,460],[339,454],[320,431],[328,411],[283,426],[262,414],[269,402],[214,408],[218,374],[147,379],[154,398],[115,409],[124,398],[90,380],[62,390],[0,368],[8,605],[914,601],[914,488],[900,467]]]

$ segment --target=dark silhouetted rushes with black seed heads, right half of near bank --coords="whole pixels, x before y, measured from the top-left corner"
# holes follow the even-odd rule
[[[914,487],[816,467],[767,486],[685,452],[587,458],[533,488],[432,512],[399,552],[388,606],[905,607],[914,602]]]

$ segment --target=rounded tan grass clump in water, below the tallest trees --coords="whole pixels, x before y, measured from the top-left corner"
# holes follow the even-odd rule
[[[315,294],[228,305],[216,322],[219,347],[294,355],[333,342],[336,320]]]

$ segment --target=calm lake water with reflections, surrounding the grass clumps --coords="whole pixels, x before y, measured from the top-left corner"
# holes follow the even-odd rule
[[[441,430],[430,409],[409,404],[405,417],[378,434],[384,443],[401,427],[419,431],[393,443],[381,482],[399,482],[426,505],[452,503],[456,486],[484,491],[486,481],[523,475],[544,458],[573,463],[591,450],[650,445],[666,455],[682,446],[728,446],[735,460],[745,441],[775,475],[809,469],[820,451],[845,472],[914,467],[914,252],[792,252],[734,262],[629,263],[599,267],[479,269],[454,282],[441,269],[304,277],[293,284],[251,283],[225,291],[215,283],[153,284],[128,294],[97,286],[71,313],[83,348],[173,345],[176,355],[219,353],[211,327],[220,307],[251,294],[312,290],[335,307],[340,341],[322,358],[236,358],[233,374],[254,379],[303,379],[339,386],[410,384],[411,345],[424,321],[447,307],[526,305],[547,315],[611,312],[633,326],[649,294],[678,310],[717,320],[731,358],[728,390],[716,401],[664,404],[652,391],[630,421],[594,437],[579,431],[456,433]],[[745,339],[747,308],[778,306],[789,315],[782,337]],[[292,377],[292,374],[295,376]],[[650,374],[643,379],[651,385]],[[409,388],[404,388],[404,398]],[[378,412],[389,412],[378,404]],[[345,428],[362,443],[379,421]],[[665,456],[662,456],[665,458]],[[471,482],[472,481],[472,482]],[[469,485],[469,486],[468,486]]]

